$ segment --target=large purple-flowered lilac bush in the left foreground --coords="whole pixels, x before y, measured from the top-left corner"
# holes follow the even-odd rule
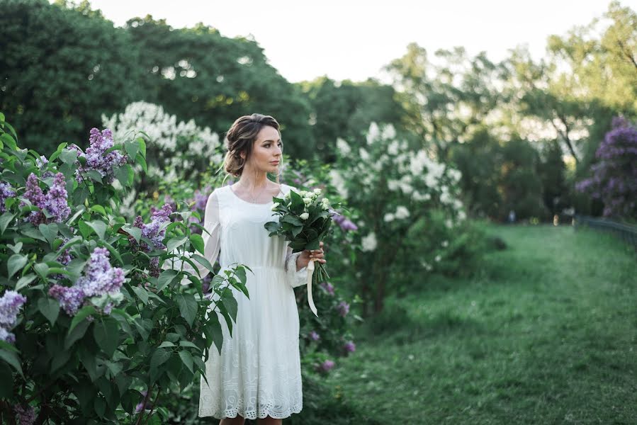
[[[184,224],[198,213],[181,203],[150,222],[118,215],[133,166],[145,168],[142,139],[115,145],[94,129],[84,152],[62,143],[46,158],[20,149],[1,113],[0,128],[0,285],[9,306],[0,317],[2,421],[19,413],[38,423],[162,422],[162,396],[205,370],[213,343],[220,350],[221,324],[206,312],[232,326],[237,303],[227,289],[248,295],[246,268],[215,276],[215,301],[196,276],[160,272],[161,261],[201,253],[203,243]]]

